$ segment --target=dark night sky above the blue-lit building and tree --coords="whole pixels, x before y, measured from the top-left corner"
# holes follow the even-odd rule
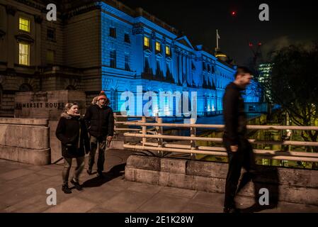
[[[262,55],[290,44],[309,46],[318,39],[318,9],[314,1],[121,0],[132,9],[142,7],[183,31],[193,45],[214,50],[216,29],[220,48],[238,65],[252,57],[249,42],[261,42]],[[269,6],[269,20],[259,21],[259,5]],[[237,16],[231,12],[237,11]]]

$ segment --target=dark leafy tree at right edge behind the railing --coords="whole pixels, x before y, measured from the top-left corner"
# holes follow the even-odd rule
[[[310,50],[290,45],[273,53],[266,89],[273,102],[288,112],[298,126],[318,126],[318,42]],[[303,131],[302,138],[317,141],[318,131]],[[317,150],[317,148],[315,148]]]

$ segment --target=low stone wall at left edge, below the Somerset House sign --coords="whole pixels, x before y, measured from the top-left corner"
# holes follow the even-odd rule
[[[49,165],[50,131],[47,119],[0,118],[0,158]]]

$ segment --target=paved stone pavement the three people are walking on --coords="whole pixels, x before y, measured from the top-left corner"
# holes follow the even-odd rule
[[[105,178],[99,179],[96,175],[87,175],[85,168],[80,178],[84,189],[77,191],[73,188],[72,194],[64,194],[61,190],[62,165],[40,166],[0,160],[0,212],[222,212],[224,194],[161,187],[125,180],[125,162],[130,155],[132,153],[126,150],[108,150]],[[56,189],[57,205],[47,205],[47,197],[50,196],[47,194],[49,188]],[[246,209],[254,202],[249,197],[238,196],[237,204],[240,208]],[[260,212],[318,212],[318,206],[280,202],[276,208],[263,209]]]

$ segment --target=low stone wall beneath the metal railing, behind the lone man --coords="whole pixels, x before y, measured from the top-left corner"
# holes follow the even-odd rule
[[[227,163],[132,155],[127,160],[125,179],[166,187],[225,192]],[[318,205],[318,171],[258,166],[254,182],[239,192],[242,196],[261,196],[269,192],[270,204],[288,201]],[[244,171],[242,171],[244,173]]]

